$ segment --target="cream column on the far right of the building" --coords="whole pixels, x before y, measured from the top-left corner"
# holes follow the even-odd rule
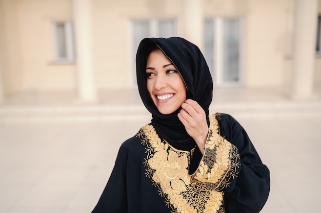
[[[296,0],[294,19],[293,98],[313,97],[317,0]]]

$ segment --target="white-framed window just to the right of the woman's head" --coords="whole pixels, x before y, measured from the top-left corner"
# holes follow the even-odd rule
[[[209,18],[204,23],[204,56],[214,85],[239,84],[242,64],[242,20]]]

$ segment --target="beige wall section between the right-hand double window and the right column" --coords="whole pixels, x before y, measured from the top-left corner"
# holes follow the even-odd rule
[[[252,0],[247,15],[246,82],[248,86],[279,86],[286,82],[285,56],[291,34],[292,1]]]

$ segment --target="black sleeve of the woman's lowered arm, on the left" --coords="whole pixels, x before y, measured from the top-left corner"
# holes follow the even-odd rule
[[[124,144],[118,151],[113,171],[101,198],[92,213],[127,212],[126,168],[128,149]]]

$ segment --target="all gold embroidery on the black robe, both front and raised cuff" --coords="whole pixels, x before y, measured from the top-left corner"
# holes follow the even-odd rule
[[[210,122],[205,157],[193,176],[188,175],[190,152],[171,147],[159,138],[152,125],[144,126],[136,135],[146,146],[146,176],[166,198],[172,212],[224,212],[224,193],[215,188],[222,183],[229,184],[224,177],[231,168],[231,152],[237,150],[217,134],[218,123],[214,116],[210,116]]]

